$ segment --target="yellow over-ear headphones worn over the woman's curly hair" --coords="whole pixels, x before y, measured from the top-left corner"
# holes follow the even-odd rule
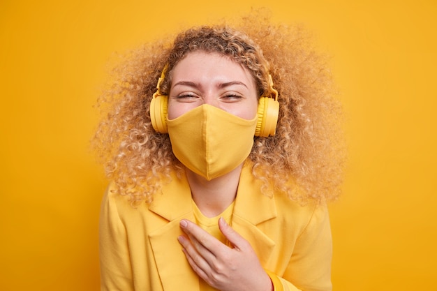
[[[158,84],[156,92],[151,98],[150,119],[151,126],[158,133],[168,133],[167,130],[167,112],[168,96],[161,94],[160,87],[167,72],[168,64],[165,65]],[[258,121],[256,123],[255,136],[269,137],[275,135],[276,124],[278,123],[279,101],[278,91],[273,88],[272,76],[269,75],[269,89],[272,93],[262,94],[258,101]],[[270,95],[270,96],[269,96]]]

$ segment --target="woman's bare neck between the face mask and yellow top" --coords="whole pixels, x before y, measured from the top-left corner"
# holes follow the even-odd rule
[[[191,195],[203,215],[214,217],[225,211],[235,200],[239,176],[243,164],[221,177],[208,181],[204,177],[186,169],[186,177],[190,184]]]

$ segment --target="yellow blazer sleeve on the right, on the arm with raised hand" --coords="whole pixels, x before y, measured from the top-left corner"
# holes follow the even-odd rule
[[[325,205],[316,207],[295,243],[283,276],[267,272],[275,291],[330,291],[332,237]],[[276,276],[276,278],[275,278]]]

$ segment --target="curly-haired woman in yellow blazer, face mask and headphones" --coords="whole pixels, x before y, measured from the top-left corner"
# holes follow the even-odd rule
[[[102,290],[332,289],[338,106],[302,31],[265,22],[188,29],[120,66],[96,134]]]

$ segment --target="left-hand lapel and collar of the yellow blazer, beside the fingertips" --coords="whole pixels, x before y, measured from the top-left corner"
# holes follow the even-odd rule
[[[163,193],[154,197],[149,209],[168,221],[149,234],[163,290],[199,290],[199,278],[177,241],[182,234],[179,221],[183,218],[194,221],[191,191],[186,179],[172,177],[172,182],[163,187]]]

